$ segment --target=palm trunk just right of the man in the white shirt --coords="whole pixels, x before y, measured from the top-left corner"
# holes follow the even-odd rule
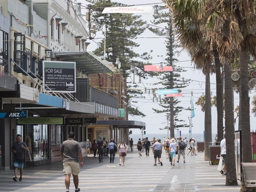
[[[226,185],[238,185],[235,169],[234,151],[234,108],[232,97],[231,65],[224,64],[224,91],[225,91],[225,138],[226,138]]]

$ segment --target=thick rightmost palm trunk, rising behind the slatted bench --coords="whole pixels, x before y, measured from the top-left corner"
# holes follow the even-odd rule
[[[245,39],[245,38],[244,38]],[[248,55],[246,51],[246,42],[241,43],[239,51],[240,60],[240,87],[241,87],[241,130],[242,130],[242,162],[252,162],[252,151],[250,141],[250,101],[249,101],[249,85],[248,85]],[[241,170],[243,173],[243,170]],[[252,188],[245,188],[243,174],[241,174],[241,192],[255,191]]]

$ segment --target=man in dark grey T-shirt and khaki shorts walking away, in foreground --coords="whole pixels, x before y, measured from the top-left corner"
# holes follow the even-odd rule
[[[80,188],[78,188],[78,174],[80,172],[80,167],[82,168],[83,159],[81,153],[81,147],[77,141],[74,140],[75,133],[70,132],[68,135],[68,139],[63,142],[60,153],[63,162],[63,172],[65,175],[65,185],[66,185],[66,192],[69,192],[69,185],[70,185],[70,176],[73,175],[73,181],[75,185],[75,192],[79,192]],[[80,167],[79,167],[79,160],[80,159]]]

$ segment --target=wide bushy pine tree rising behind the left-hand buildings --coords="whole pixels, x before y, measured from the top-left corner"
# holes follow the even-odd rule
[[[140,15],[126,14],[126,13],[111,13],[101,14],[104,7],[111,6],[125,6],[124,4],[111,2],[111,0],[88,0],[92,3],[92,19],[95,19],[99,28],[106,32],[106,59],[109,62],[116,63],[116,58],[120,59],[121,71],[123,76],[130,81],[129,75],[133,73],[130,71],[130,66],[136,68],[137,75],[146,78],[147,75],[153,73],[144,73],[144,62],[151,59],[150,52],[139,54],[134,51],[134,48],[140,45],[133,39],[142,34],[146,28],[146,22],[140,19]],[[97,56],[104,56],[104,39],[99,42],[99,46],[94,51]],[[133,82],[135,83],[135,82]],[[139,88],[137,84],[131,84],[128,88]],[[143,97],[142,91],[127,89],[127,112],[134,116],[145,116],[137,107],[131,103],[131,98]]]

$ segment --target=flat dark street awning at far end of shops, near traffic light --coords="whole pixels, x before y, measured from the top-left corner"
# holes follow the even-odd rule
[[[92,125],[113,125],[113,128],[127,129],[143,129],[146,127],[144,122],[129,120],[97,120],[97,123],[92,123]]]

